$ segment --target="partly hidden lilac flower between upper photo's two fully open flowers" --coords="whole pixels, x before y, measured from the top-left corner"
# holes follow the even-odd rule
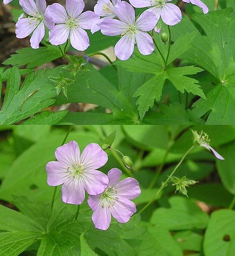
[[[104,18],[99,19],[93,23],[90,30],[91,33],[95,33],[100,30],[100,24],[105,18],[114,18],[116,16],[114,14],[114,6],[120,2],[121,0],[98,0],[97,4],[94,7],[94,11],[96,14]]]

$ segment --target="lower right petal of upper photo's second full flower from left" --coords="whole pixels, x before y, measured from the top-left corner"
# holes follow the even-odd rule
[[[85,51],[90,45],[88,34],[81,28],[74,28],[70,32],[70,42],[78,51]]]

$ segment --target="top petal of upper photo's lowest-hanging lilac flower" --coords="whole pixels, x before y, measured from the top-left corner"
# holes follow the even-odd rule
[[[135,23],[135,10],[132,5],[122,1],[114,6],[114,13],[121,21],[127,25]]]

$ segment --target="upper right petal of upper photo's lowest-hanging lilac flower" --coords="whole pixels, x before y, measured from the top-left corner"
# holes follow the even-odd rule
[[[157,17],[150,11],[144,11],[136,20],[136,27],[142,31],[150,31],[154,29],[157,24]]]

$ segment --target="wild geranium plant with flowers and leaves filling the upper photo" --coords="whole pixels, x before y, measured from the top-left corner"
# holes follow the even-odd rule
[[[19,6],[16,38],[28,47],[0,69],[0,124],[235,123],[234,1]]]

